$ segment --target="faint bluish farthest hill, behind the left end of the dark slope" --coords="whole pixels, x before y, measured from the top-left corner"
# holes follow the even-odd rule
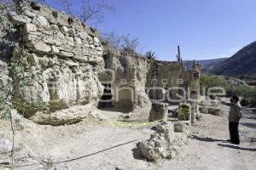
[[[220,62],[223,62],[225,59],[228,58],[195,60],[195,62],[201,65],[201,71],[210,72],[215,67],[215,65],[217,65]],[[191,69],[193,65],[193,60],[185,60],[184,65],[186,66],[187,69]]]

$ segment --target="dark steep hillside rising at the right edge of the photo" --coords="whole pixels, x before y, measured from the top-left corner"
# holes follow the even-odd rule
[[[227,76],[256,75],[256,41],[241,48],[231,58],[214,65],[209,71]]]

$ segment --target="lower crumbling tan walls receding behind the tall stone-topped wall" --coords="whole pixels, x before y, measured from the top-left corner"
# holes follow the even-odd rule
[[[119,94],[121,88],[133,88],[135,94],[134,105],[131,107],[146,107],[151,105],[150,99],[163,99],[167,102],[166,91],[170,90],[170,98],[176,99],[174,94],[179,93],[178,89],[199,90],[199,77],[194,77],[194,71],[186,71],[185,67],[177,62],[167,62],[159,60],[148,60],[139,55],[125,54],[120,51],[108,53],[104,55],[105,68],[114,71],[104,72],[101,76],[101,82],[109,82],[113,88],[113,105],[130,104],[132,96],[129,94]],[[199,73],[200,74],[200,73]],[[148,88],[159,88],[159,90]],[[120,91],[119,91],[120,92]],[[119,94],[119,101],[117,100]],[[189,97],[189,94],[187,94]],[[149,98],[148,98],[149,96]],[[124,101],[122,101],[124,99]],[[125,105],[127,108],[127,105]],[[128,106],[129,107],[129,106]]]

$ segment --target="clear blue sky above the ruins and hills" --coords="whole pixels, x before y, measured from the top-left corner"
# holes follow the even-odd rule
[[[56,0],[50,6],[61,9]],[[91,0],[92,4],[102,0]],[[102,33],[130,34],[140,52],[152,50],[158,59],[175,60],[177,45],[183,60],[230,57],[256,40],[256,0],[105,0],[113,12],[102,23],[89,22]],[[73,10],[79,13],[79,0]]]

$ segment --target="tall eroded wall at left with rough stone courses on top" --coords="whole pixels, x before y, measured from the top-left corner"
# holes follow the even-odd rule
[[[21,60],[29,69],[25,70],[26,85],[14,87],[13,101],[24,116],[40,124],[78,122],[102,96],[97,72],[104,65],[103,47],[97,33],[78,20],[68,22],[69,16],[51,8],[34,10],[22,1],[18,9],[17,14],[9,14],[20,26],[21,37],[12,60]],[[83,114],[56,113],[73,105],[90,107]]]

